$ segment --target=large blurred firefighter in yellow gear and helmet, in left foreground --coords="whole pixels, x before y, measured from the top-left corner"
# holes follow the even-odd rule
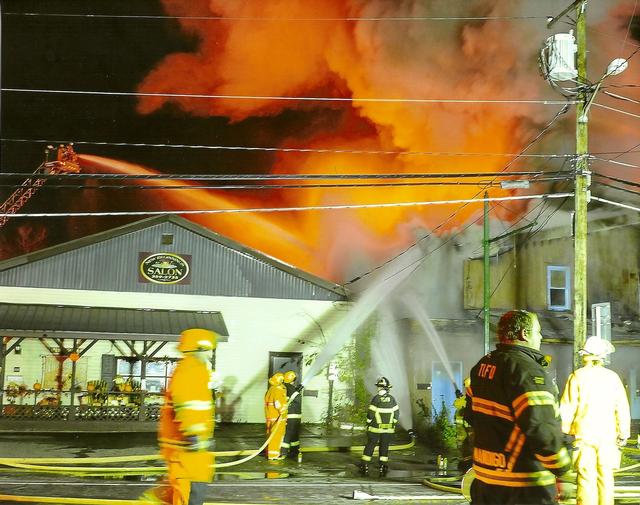
[[[213,478],[214,456],[209,452],[214,430],[211,351],[214,332],[193,328],[180,335],[178,362],[160,410],[158,442],[168,467],[172,505],[202,505],[206,483]],[[148,498],[148,497],[147,497]]]

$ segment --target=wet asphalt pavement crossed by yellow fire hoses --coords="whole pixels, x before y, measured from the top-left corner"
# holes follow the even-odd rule
[[[400,434],[395,443],[407,443],[409,440],[406,435]],[[263,441],[262,425],[222,425],[216,430],[215,450],[257,449]],[[331,446],[343,450],[305,453],[301,463],[290,460],[267,461],[263,455],[258,455],[240,465],[221,468],[208,486],[207,502],[288,505],[369,503],[370,500],[366,499],[354,500],[356,492],[356,495],[366,493],[378,497],[376,501],[395,497],[384,499],[383,503],[389,505],[414,500],[450,505],[466,503],[459,494],[431,489],[423,484],[425,477],[436,476],[436,455],[420,441],[411,449],[391,452],[390,471],[386,477],[379,477],[377,468],[372,466],[371,477],[368,478],[361,477],[358,472],[360,453],[347,449],[363,443],[364,434],[361,432],[334,431],[326,434],[319,427],[305,427],[303,447]],[[157,452],[154,433],[0,434],[2,458],[83,458]],[[238,459],[225,457],[217,461],[226,463]],[[120,463],[120,466],[151,464],[157,465],[159,462]],[[453,461],[451,466],[454,466]],[[154,487],[160,478],[160,475],[117,478],[73,476],[2,468],[0,494],[133,500]]]

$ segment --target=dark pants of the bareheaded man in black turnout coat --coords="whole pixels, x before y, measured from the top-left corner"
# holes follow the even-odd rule
[[[475,479],[471,484],[472,505],[556,505],[555,486],[494,486]]]

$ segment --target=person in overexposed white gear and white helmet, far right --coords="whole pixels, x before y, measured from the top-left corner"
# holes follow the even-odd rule
[[[575,437],[577,505],[613,505],[613,471],[630,435],[626,391],[603,363],[614,351],[611,342],[589,337],[580,351],[584,366],[569,376],[560,401],[562,430]]]

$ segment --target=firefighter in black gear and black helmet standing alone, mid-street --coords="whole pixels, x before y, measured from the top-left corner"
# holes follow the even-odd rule
[[[396,399],[389,394],[391,383],[386,377],[380,377],[376,382],[378,394],[371,399],[367,410],[367,445],[362,453],[360,472],[369,475],[369,463],[376,446],[379,447],[379,472],[384,477],[389,470],[389,444],[396,430],[400,411]]]

